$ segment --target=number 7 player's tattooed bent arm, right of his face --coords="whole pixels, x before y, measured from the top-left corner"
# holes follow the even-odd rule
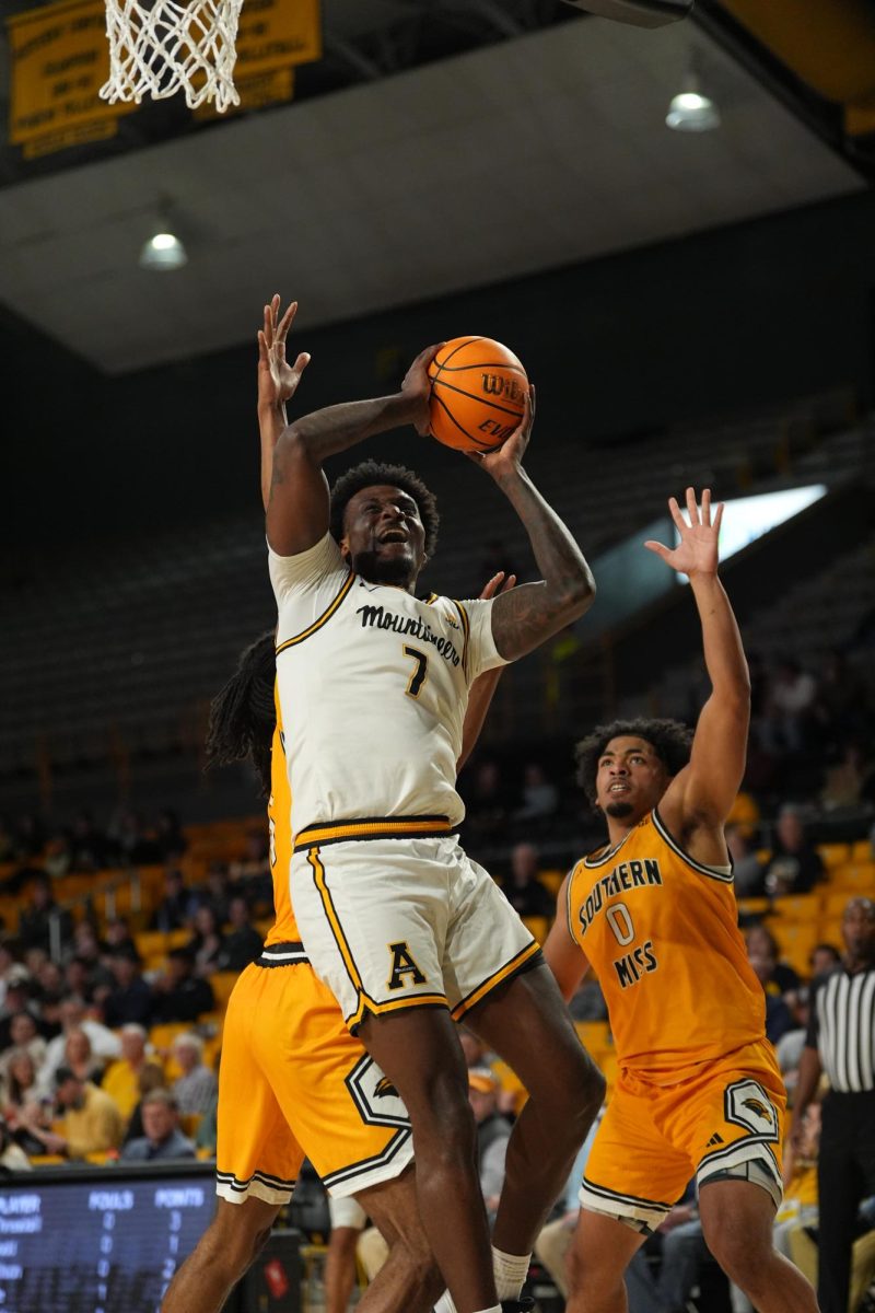
[[[535,390],[530,389],[519,428],[487,454],[468,453],[491,474],[522,520],[540,583],[525,583],[496,597],[492,637],[499,654],[514,660],[588,611],[596,597],[596,580],[584,555],[552,507],[547,506],[522,467],[535,418]]]

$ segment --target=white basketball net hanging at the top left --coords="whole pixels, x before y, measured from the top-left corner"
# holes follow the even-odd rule
[[[189,109],[215,100],[239,105],[234,85],[243,0],[106,0],[109,80],[102,100],[165,100],[185,92]]]

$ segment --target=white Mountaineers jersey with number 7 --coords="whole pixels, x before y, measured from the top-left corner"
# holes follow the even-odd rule
[[[293,832],[319,822],[446,817],[471,683],[504,664],[492,601],[420,601],[353,574],[325,537],[269,550]]]

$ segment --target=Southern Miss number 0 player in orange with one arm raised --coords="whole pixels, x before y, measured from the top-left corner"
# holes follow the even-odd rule
[[[687,488],[669,550],[689,575],[711,696],[695,735],[618,721],[577,747],[579,781],[609,843],[567,877],[544,952],[565,997],[588,965],[605,993],[619,1078],[586,1163],[568,1313],[622,1313],[623,1272],[695,1174],[708,1249],[760,1313],[815,1313],[773,1249],[784,1088],[765,997],[737,930],[723,825],[744,773],[750,685],[718,579],[723,507]],[[691,738],[691,744],[690,744]]]

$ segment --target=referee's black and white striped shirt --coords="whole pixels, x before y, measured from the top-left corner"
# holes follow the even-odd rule
[[[811,987],[805,1044],[816,1048],[833,1090],[875,1090],[875,965],[837,966]]]

